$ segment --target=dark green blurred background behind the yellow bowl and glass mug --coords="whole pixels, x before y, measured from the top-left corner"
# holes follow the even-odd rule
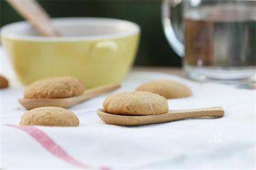
[[[131,20],[141,27],[141,42],[135,65],[181,66],[164,36],[161,1],[38,1],[51,17],[109,17]],[[22,17],[6,1],[0,0],[1,25]]]

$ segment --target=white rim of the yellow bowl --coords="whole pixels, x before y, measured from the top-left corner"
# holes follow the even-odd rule
[[[131,36],[140,33],[140,26],[138,24],[122,19],[111,19],[104,17],[61,17],[52,18],[52,23],[58,22],[115,22],[120,24],[126,24],[131,27],[131,30],[124,31],[122,33],[111,33],[107,35],[87,35],[87,36],[33,36],[33,35],[19,35],[17,33],[10,33],[10,29],[13,27],[31,27],[28,21],[13,22],[7,24],[1,28],[1,38],[10,38],[13,40],[25,40],[25,41],[38,41],[38,42],[74,42],[74,41],[88,41],[88,40],[105,40],[113,38],[123,38],[125,36]],[[60,24],[59,23],[59,24]],[[100,24],[99,24],[100,25]]]

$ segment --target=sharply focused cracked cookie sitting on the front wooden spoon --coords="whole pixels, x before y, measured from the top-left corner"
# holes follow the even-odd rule
[[[123,115],[151,115],[168,112],[164,97],[146,91],[111,95],[103,103],[106,112]]]

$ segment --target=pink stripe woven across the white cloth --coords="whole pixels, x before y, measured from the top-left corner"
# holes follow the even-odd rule
[[[58,144],[56,144],[45,132],[40,130],[39,128],[33,127],[33,126],[17,126],[17,125],[7,125],[8,127],[15,127],[19,128],[20,130],[23,130],[24,132],[27,132],[31,137],[36,139],[38,143],[40,143],[47,151],[52,153],[52,155],[61,158],[62,160],[65,160],[65,162],[68,162],[69,164],[72,164],[77,167],[82,167],[83,169],[92,169],[92,167],[86,166],[82,162],[79,162],[75,158],[68,155],[68,153],[61,148]],[[100,169],[108,169],[108,167],[102,167]]]

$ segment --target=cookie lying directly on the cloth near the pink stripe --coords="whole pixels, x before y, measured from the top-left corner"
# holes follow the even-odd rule
[[[37,107],[22,115],[20,125],[77,127],[79,120],[74,112],[62,107]]]

